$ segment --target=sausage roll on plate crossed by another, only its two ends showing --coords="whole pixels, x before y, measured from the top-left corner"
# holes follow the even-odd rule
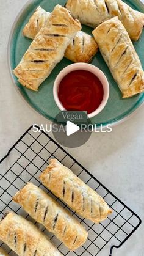
[[[45,26],[50,13],[43,10],[40,6],[35,10],[23,30],[25,37],[34,39],[35,35]],[[98,45],[91,35],[79,31],[68,45],[65,57],[73,62],[90,62],[98,51]]]

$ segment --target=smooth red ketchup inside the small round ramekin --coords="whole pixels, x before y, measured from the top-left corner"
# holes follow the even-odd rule
[[[68,73],[60,82],[58,97],[68,111],[95,111],[103,100],[104,90],[97,76],[87,70]]]

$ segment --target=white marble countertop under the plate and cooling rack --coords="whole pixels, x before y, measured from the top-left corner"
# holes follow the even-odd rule
[[[27,0],[1,0],[0,4],[0,159],[33,123],[50,123],[20,97],[7,65],[7,43],[16,15]],[[134,210],[144,221],[144,106],[112,133],[92,134],[80,148],[68,152]],[[52,135],[52,134],[51,134]],[[113,255],[143,256],[143,225]],[[105,256],[105,255],[104,255]]]

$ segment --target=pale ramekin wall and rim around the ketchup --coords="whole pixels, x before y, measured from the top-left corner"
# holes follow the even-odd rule
[[[90,71],[91,73],[93,73],[94,75],[96,75],[99,78],[99,80],[101,81],[101,83],[103,85],[104,96],[103,96],[103,100],[101,101],[101,104],[99,105],[99,107],[95,111],[93,111],[92,113],[88,114],[89,118],[95,117],[95,115],[98,115],[104,109],[104,107],[107,104],[107,100],[109,98],[109,82],[107,81],[107,78],[104,75],[104,73],[101,70],[99,70],[99,68],[95,67],[92,64],[74,63],[74,64],[68,65],[67,67],[63,68],[63,70],[60,71],[59,75],[57,75],[57,78],[54,81],[54,89],[53,89],[54,100],[55,100],[58,108],[61,111],[65,110],[65,108],[63,107],[63,105],[60,102],[59,97],[58,97],[59,84],[62,81],[62,79],[68,73],[70,73],[70,72],[72,72],[74,70],[87,70],[87,71]],[[85,109],[84,109],[84,111],[85,111]]]

